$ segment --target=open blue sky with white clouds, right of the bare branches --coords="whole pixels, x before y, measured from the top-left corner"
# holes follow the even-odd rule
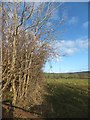
[[[56,4],[56,3],[55,3]],[[58,25],[56,29],[57,48],[60,56],[47,62],[45,72],[75,72],[88,70],[88,3],[67,2],[62,16],[64,25]],[[53,22],[58,20],[61,8],[53,13]],[[64,30],[63,34],[59,34]]]

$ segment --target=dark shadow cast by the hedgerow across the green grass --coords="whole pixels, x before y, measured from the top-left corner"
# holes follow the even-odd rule
[[[47,109],[42,116],[47,118],[87,118],[88,95],[75,87],[64,84],[48,84],[44,96]]]

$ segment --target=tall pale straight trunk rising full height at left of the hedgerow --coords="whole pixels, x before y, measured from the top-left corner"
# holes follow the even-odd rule
[[[17,16],[16,16],[16,3],[14,3],[14,40],[13,40],[13,58],[12,58],[12,71],[13,71],[13,81],[12,81],[12,88],[13,88],[13,105],[16,104],[16,98],[17,98],[17,91],[16,91],[16,58],[17,58],[17,31],[16,31],[16,25],[17,25]]]

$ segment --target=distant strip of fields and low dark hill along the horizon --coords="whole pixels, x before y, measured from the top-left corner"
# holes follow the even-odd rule
[[[59,78],[80,78],[89,79],[90,71],[73,72],[73,73],[44,73],[45,78],[59,79]]]

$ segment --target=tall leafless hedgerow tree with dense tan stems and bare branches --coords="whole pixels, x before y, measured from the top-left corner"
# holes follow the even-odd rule
[[[55,27],[47,23],[50,23],[52,13],[60,5],[26,2],[1,4],[1,91],[12,93],[13,105],[24,107],[37,101],[42,86],[42,68],[51,55],[56,55],[51,46],[55,39]],[[63,20],[57,23],[62,24]]]

